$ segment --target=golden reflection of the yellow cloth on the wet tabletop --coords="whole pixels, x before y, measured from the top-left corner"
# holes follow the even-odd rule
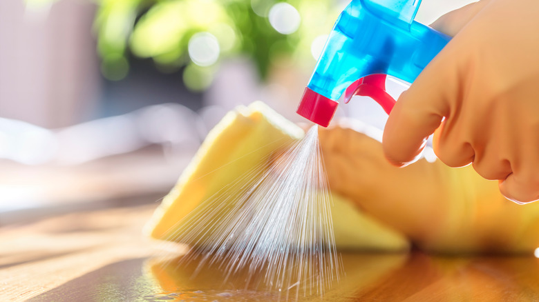
[[[219,269],[218,263],[213,265],[198,266],[203,255],[191,256],[188,262],[182,261],[182,256],[176,259],[159,260],[149,259],[146,270],[151,272],[155,280],[160,284],[164,292],[182,292],[185,290],[220,290],[237,291],[244,290],[248,296],[253,292],[266,292],[272,299],[328,299],[328,301],[340,301],[343,297],[351,296],[357,288],[368,286],[396,270],[406,262],[408,254],[342,254],[341,280],[326,283],[323,288],[316,284],[313,287],[291,286],[278,291],[263,282],[265,271],[252,276],[248,268],[240,270],[231,276]],[[344,275],[344,277],[342,276]],[[316,278],[305,276],[305,278]],[[247,282],[249,281],[249,282]],[[310,284],[310,283],[302,283]],[[323,292],[318,294],[317,292]],[[245,299],[247,299],[245,296]],[[240,296],[236,296],[239,299]],[[268,298],[269,299],[269,298]],[[271,300],[268,300],[271,301]]]

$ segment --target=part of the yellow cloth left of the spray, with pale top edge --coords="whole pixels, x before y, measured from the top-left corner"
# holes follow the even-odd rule
[[[228,112],[209,132],[174,188],[155,210],[144,233],[155,239],[173,240],[181,230],[178,223],[198,205],[253,167],[267,163],[275,150],[304,134],[299,126],[260,101]]]

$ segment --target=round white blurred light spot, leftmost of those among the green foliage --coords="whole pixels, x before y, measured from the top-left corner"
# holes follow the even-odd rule
[[[189,40],[189,57],[198,66],[210,66],[219,59],[220,47],[217,38],[209,32],[193,34]]]

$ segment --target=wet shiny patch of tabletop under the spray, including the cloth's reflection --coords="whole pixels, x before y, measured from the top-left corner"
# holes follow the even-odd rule
[[[406,254],[343,254],[347,276],[339,283],[282,290],[264,283],[263,274],[252,276],[245,270],[227,277],[216,265],[200,268],[196,258],[187,263],[182,257],[132,259],[106,265],[30,301],[346,301],[356,288],[407,258]]]

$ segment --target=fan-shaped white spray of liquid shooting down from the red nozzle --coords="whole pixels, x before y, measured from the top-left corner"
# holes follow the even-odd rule
[[[287,297],[322,295],[341,270],[331,206],[313,126],[179,221],[169,240],[191,246],[182,262],[220,268],[224,282],[247,270],[247,283],[263,282]]]

